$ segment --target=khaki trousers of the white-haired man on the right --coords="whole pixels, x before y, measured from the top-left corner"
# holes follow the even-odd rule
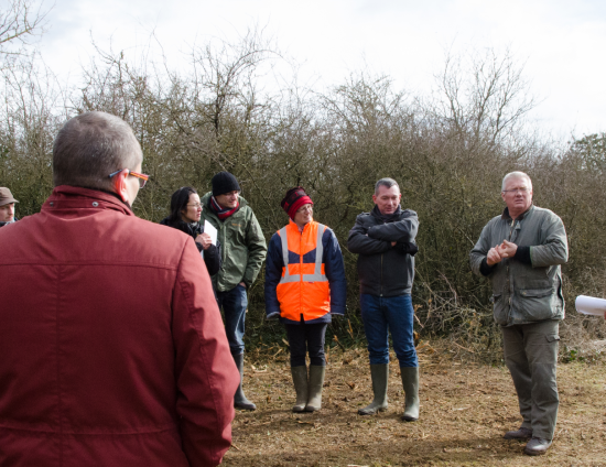
[[[501,327],[505,363],[518,393],[522,425],[532,436],[553,439],[558,420],[559,321]]]

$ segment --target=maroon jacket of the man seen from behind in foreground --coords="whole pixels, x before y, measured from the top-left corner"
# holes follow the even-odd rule
[[[0,466],[221,461],[239,374],[190,237],[59,186],[0,245]]]

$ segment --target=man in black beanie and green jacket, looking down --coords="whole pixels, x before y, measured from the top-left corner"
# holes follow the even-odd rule
[[[225,315],[229,349],[240,370],[240,385],[234,398],[237,409],[255,410],[242,391],[244,334],[248,307],[247,289],[252,285],[266,259],[267,245],[255,213],[240,196],[240,185],[229,172],[213,177],[213,192],[202,197],[201,220],[208,220],[218,230],[223,264],[213,275],[217,302]]]

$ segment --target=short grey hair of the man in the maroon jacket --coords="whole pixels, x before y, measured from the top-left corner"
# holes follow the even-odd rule
[[[53,183],[113,192],[109,174],[133,170],[141,160],[141,146],[126,121],[106,112],[82,113],[55,139]]]

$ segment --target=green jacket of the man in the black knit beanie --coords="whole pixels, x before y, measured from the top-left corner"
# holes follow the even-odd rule
[[[208,206],[210,193],[202,197],[204,209],[201,221],[208,220],[218,230],[221,243],[223,265],[213,275],[213,284],[218,292],[226,292],[244,282],[247,289],[252,285],[266,259],[267,243],[261,226],[245,198],[240,196],[240,208],[224,221]]]

